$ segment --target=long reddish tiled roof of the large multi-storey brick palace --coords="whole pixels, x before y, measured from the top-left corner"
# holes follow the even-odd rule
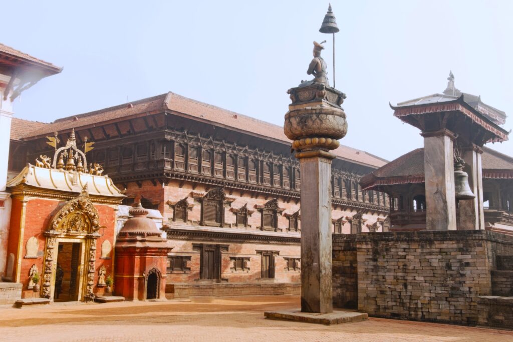
[[[280,143],[291,143],[285,136],[282,126],[273,125],[250,116],[202,103],[172,92],[144,98],[130,102],[129,104],[57,119],[51,124],[44,125],[24,135],[24,139],[40,138],[55,131],[66,132],[72,128],[77,130],[82,127],[97,126],[99,123],[119,121],[129,118],[132,115],[159,113],[164,110],[184,117],[191,117],[195,120],[208,122],[216,126],[258,135],[267,139],[274,139]],[[380,167],[387,162],[385,159],[365,151],[342,145],[334,150],[334,153],[342,159],[371,167]]]

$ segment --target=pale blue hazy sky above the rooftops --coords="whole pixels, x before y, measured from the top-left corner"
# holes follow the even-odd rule
[[[310,79],[328,1],[5,1],[0,42],[63,67],[15,100],[15,116],[53,120],[168,91],[283,125],[287,89]],[[389,103],[456,87],[513,127],[513,2],[332,0],[341,144],[392,160],[422,147]],[[513,140],[513,134],[511,135]],[[513,142],[488,144],[513,155]]]

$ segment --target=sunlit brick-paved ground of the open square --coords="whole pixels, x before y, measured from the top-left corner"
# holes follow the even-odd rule
[[[322,326],[264,318],[297,296],[0,309],[2,341],[513,341],[513,332],[370,318]]]

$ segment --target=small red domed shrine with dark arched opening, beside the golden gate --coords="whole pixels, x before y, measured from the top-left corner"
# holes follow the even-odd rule
[[[126,300],[160,299],[166,296],[167,254],[172,247],[139,206],[121,229],[115,246],[114,294]]]

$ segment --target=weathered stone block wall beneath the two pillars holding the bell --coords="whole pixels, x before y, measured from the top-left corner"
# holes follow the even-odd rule
[[[354,263],[355,250],[357,297],[347,289],[354,267],[342,267]],[[492,295],[497,255],[513,255],[513,237],[488,231],[334,235],[333,302],[356,300],[358,310],[372,316],[482,324],[480,296]]]

